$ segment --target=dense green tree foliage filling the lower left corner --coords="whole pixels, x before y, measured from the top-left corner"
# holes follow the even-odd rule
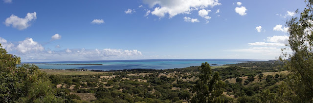
[[[62,103],[44,72],[36,65],[17,67],[20,63],[0,44],[0,103]]]

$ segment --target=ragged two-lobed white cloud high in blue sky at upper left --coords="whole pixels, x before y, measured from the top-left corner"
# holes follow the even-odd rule
[[[12,26],[13,28],[16,28],[18,30],[23,30],[31,25],[31,21],[37,19],[36,15],[36,12],[27,13],[25,18],[20,18],[12,14],[11,17],[5,19],[4,24],[6,26]]]

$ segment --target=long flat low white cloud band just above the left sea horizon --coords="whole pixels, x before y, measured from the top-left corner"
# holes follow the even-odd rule
[[[68,50],[68,51],[67,51]],[[70,52],[71,51],[71,52]],[[21,55],[24,62],[42,61],[73,61],[73,60],[118,60],[137,58],[142,56],[137,50],[118,49],[66,49],[66,51],[43,51]]]

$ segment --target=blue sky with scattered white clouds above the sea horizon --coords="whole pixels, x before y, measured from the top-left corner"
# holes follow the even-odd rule
[[[304,0],[1,0],[0,44],[22,62],[275,59]]]

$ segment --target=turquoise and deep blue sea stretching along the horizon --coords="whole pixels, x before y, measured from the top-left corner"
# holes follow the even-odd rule
[[[62,61],[62,62],[26,62],[40,69],[176,69],[201,66],[208,62],[210,66],[237,64],[244,61],[268,61],[266,59],[147,59],[147,60],[101,60],[101,61]],[[102,65],[66,65],[66,64],[102,64]]]

